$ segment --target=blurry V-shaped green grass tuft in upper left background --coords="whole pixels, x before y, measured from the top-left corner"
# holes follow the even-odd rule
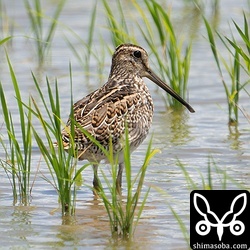
[[[28,14],[32,31],[35,35],[36,49],[38,54],[38,63],[43,64],[44,59],[52,45],[52,39],[58,24],[58,18],[64,7],[66,0],[60,0],[56,6],[56,10],[52,18],[46,17],[43,14],[43,9],[40,0],[32,1],[34,6],[30,3],[30,0],[24,0],[26,12]],[[43,19],[50,20],[50,25],[45,34],[45,25]],[[47,25],[46,25],[47,26]]]

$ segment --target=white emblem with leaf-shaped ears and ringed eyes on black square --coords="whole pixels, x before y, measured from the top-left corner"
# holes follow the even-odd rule
[[[199,203],[200,208],[198,206],[199,199],[201,202]],[[235,204],[239,203],[240,199],[243,199],[243,205],[239,209],[238,208],[239,206],[236,207]],[[207,199],[203,195],[199,193],[195,193],[193,197],[193,204],[194,204],[196,211],[204,218],[203,220],[200,220],[199,222],[197,222],[195,226],[195,230],[199,235],[202,235],[202,236],[207,235],[209,234],[211,227],[215,227],[217,228],[217,235],[218,235],[219,241],[221,241],[222,235],[224,233],[224,227],[229,227],[230,232],[236,236],[243,234],[243,232],[245,231],[245,225],[243,224],[242,221],[237,220],[237,217],[246,208],[246,205],[247,205],[246,193],[239,194],[233,199],[231,206],[230,206],[230,210],[227,211],[222,216],[221,219],[219,219],[218,216],[213,211],[210,210],[210,205]],[[232,218],[230,222],[225,223],[226,219],[228,220],[230,218]]]

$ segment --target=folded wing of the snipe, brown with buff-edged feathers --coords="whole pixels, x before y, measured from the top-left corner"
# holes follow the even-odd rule
[[[105,84],[74,104],[74,119],[96,139],[109,140],[107,129],[119,134],[119,124],[124,122],[124,116],[128,109],[131,109],[130,95],[134,95],[134,91],[131,91],[129,84],[124,85],[117,81],[113,84]],[[66,126],[69,127],[70,124],[69,119]],[[67,136],[68,131],[69,129],[62,131],[64,136]],[[117,136],[120,136],[118,134]],[[77,127],[75,127],[75,135],[78,141],[89,141]]]

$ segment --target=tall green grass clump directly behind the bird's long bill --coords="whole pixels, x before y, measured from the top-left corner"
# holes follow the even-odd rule
[[[144,0],[147,12],[141,4],[133,2],[142,17],[144,25],[138,22],[142,37],[155,57],[160,74],[166,79],[172,89],[183,99],[187,99],[187,84],[189,77],[192,41],[182,41],[177,38],[170,15],[157,1]],[[152,19],[152,23],[149,21]],[[151,20],[150,19],[150,20]],[[173,109],[182,109],[182,105],[167,95],[166,105]]]

